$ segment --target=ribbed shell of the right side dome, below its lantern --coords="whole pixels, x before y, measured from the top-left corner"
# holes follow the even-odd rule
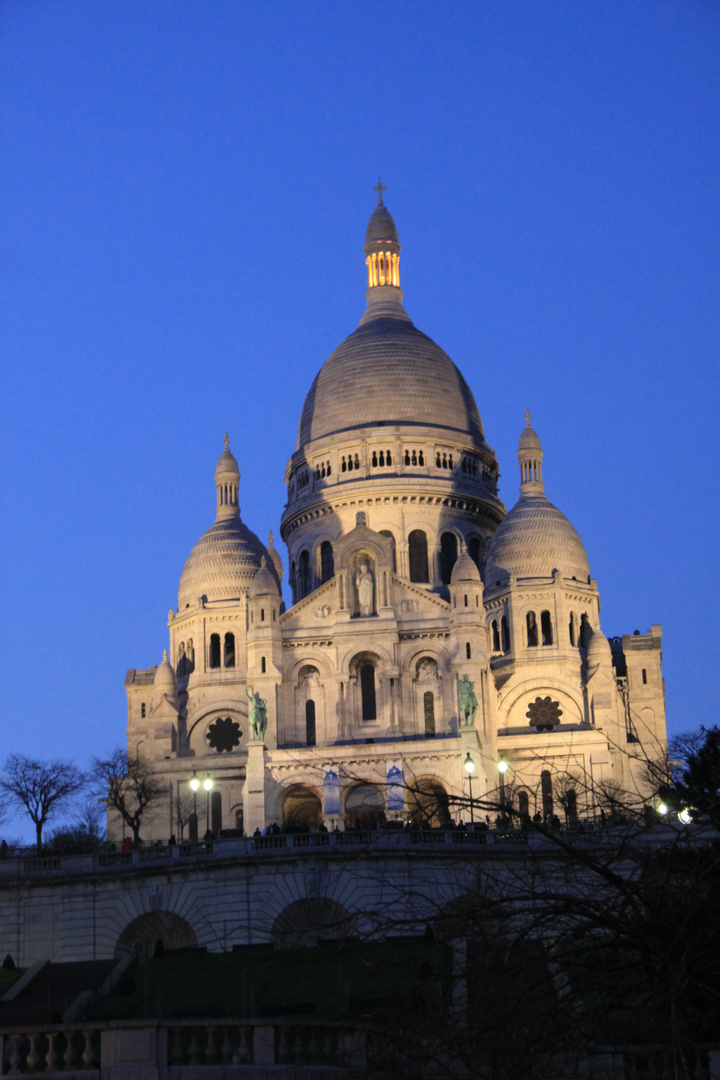
[[[587,581],[590,568],[583,543],[557,507],[543,497],[522,498],[495,532],[485,570],[488,585],[507,573],[517,578],[566,578]]]

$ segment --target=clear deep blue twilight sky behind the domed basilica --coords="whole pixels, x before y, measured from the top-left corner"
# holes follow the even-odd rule
[[[379,174],[505,503],[529,407],[604,632],[717,720],[720,4],[4,0],[0,112],[1,757],[123,740],[226,429],[277,536]]]

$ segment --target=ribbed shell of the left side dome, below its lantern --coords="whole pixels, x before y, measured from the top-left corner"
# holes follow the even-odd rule
[[[178,610],[199,596],[228,600],[243,596],[268,557],[264,544],[240,517],[216,522],[200,538],[185,564],[178,591]]]

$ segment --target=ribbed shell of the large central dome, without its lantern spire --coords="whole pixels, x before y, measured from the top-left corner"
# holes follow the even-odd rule
[[[338,346],[305,399],[298,448],[378,422],[432,424],[484,442],[470,387],[447,353],[406,319],[372,319]]]

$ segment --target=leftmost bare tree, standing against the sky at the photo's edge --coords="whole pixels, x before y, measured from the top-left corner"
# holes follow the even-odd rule
[[[67,808],[83,780],[69,761],[38,761],[22,754],[11,754],[5,761],[0,788],[12,806],[30,815],[38,852],[42,851],[43,826]]]

